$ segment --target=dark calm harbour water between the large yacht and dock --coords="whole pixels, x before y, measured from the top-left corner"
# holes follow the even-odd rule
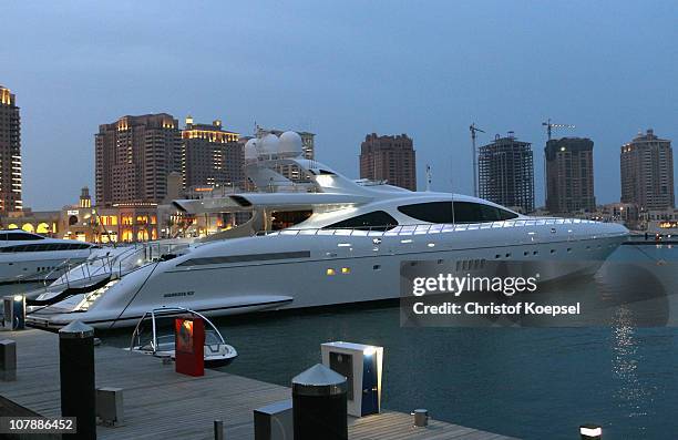
[[[372,344],[384,347],[388,409],[427,408],[436,419],[525,439],[578,438],[589,421],[603,424],[606,440],[678,438],[678,330],[631,323],[403,328],[397,306],[216,320],[239,351],[228,372],[289,386],[320,361],[321,342]],[[104,340],[127,344],[126,334]]]

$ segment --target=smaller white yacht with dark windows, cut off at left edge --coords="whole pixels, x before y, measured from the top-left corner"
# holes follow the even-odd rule
[[[0,231],[0,285],[52,282],[99,249],[91,243]]]

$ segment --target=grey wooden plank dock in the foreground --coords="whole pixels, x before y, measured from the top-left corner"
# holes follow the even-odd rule
[[[17,381],[0,381],[0,396],[44,417],[60,416],[59,337],[29,329],[0,331],[17,341]],[[174,372],[174,364],[130,354],[120,348],[95,348],[96,386],[123,388],[124,424],[97,427],[100,439],[213,439],[213,421],[224,421],[225,439],[254,439],[253,410],[291,398],[287,387],[206,370],[193,378]],[[8,407],[0,403],[0,416]],[[439,420],[413,428],[412,417],[384,411],[349,418],[349,438],[360,440],[507,440]]]

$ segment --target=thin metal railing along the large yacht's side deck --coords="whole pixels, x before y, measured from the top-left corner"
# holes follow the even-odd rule
[[[456,224],[412,224],[412,225],[383,225],[353,228],[287,228],[280,231],[265,231],[257,235],[336,235],[336,236],[368,236],[388,237],[400,235],[424,235],[440,234],[462,231],[494,229],[502,227],[524,227],[544,225],[571,225],[593,224],[595,221],[584,218],[538,218],[538,219],[511,219],[486,223],[456,223]]]

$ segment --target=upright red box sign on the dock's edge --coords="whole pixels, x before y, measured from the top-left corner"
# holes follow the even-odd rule
[[[176,372],[205,375],[205,323],[202,318],[174,319],[174,352]]]

